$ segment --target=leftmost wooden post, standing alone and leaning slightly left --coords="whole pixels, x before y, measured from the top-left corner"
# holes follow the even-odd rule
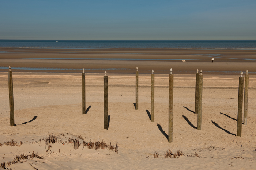
[[[12,85],[11,66],[9,66],[9,71],[8,71],[8,85],[9,85],[10,124],[11,124],[11,126],[15,126],[15,124],[14,124],[14,101],[13,101],[13,85]]]

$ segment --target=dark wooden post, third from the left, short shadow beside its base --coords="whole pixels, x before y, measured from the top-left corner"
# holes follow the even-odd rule
[[[104,129],[108,130],[108,76],[104,76]]]

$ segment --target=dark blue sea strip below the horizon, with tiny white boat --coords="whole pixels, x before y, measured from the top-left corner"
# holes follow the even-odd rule
[[[0,40],[1,47],[256,49],[256,40]]]

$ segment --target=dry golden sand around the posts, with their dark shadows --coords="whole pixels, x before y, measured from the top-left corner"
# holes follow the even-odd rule
[[[16,155],[42,154],[8,168],[44,169],[255,169],[256,76],[249,78],[248,125],[236,136],[238,75],[204,75],[202,130],[197,130],[195,75],[174,75],[174,133],[168,143],[168,75],[155,75],[155,122],[150,122],[150,75],[139,75],[139,110],[135,110],[135,75],[108,74],[109,130],[103,127],[103,74],[86,74],[86,108],[82,115],[82,75],[13,73],[15,124],[10,126],[8,75],[0,73],[0,163]],[[67,141],[118,142],[119,151],[73,149]],[[41,142],[39,142],[41,139]],[[44,140],[42,140],[44,139]],[[79,139],[83,143],[82,139]],[[164,158],[167,149],[184,156]],[[47,151],[47,152],[46,152]],[[153,158],[155,152],[159,158]],[[199,157],[195,157],[195,152]],[[192,155],[192,157],[189,157]],[[32,167],[33,166],[33,167]]]

